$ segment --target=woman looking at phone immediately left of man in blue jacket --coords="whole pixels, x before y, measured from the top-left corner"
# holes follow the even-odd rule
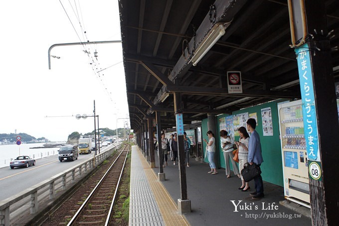
[[[235,142],[238,148],[238,158],[239,158],[239,171],[244,168],[244,164],[247,163],[247,157],[248,157],[248,141],[250,140],[250,136],[248,135],[245,127],[240,127],[238,129],[240,140],[239,142]],[[241,186],[239,190],[242,192],[246,192],[247,190],[250,190],[250,187],[248,185],[248,182],[245,183],[243,177],[241,176]]]

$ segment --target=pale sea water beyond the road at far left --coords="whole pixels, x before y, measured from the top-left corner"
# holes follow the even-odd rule
[[[34,144],[8,144],[0,145],[0,168],[9,166],[9,162],[21,155],[27,155],[33,159],[41,159],[52,155],[57,155],[59,147],[55,148],[33,148],[43,147],[44,143]]]

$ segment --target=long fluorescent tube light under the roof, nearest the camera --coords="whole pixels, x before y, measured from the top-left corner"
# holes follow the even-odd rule
[[[212,46],[225,34],[226,26],[216,23],[205,38],[201,41],[199,48],[194,52],[191,59],[193,66],[196,66],[201,58],[212,48]]]

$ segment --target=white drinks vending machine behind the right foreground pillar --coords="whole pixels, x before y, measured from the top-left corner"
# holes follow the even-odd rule
[[[278,104],[278,111],[285,198],[310,208],[302,101]]]

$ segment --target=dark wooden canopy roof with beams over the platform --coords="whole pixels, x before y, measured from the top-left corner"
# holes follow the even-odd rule
[[[299,99],[287,2],[119,0],[131,128],[156,111],[162,128],[174,126],[174,92],[181,94],[184,124],[279,98]],[[337,81],[339,0],[325,4]],[[241,72],[242,93],[228,91],[227,71]]]

